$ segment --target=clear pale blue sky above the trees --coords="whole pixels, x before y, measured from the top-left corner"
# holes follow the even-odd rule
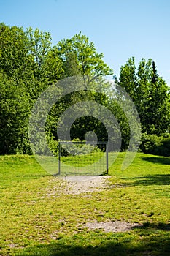
[[[0,21],[48,31],[54,45],[82,31],[115,75],[131,56],[151,58],[170,86],[169,0],[0,0]]]

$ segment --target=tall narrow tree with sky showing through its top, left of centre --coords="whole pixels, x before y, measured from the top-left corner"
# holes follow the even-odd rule
[[[38,81],[38,95],[49,85],[61,79],[63,64],[59,59],[58,52],[51,46],[51,35],[48,32],[27,29],[28,54],[34,60],[34,78]],[[36,94],[37,95],[37,94]]]

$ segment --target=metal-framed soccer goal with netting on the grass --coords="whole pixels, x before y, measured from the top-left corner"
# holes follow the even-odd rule
[[[99,176],[104,173],[108,173],[107,142],[59,142],[59,175]]]

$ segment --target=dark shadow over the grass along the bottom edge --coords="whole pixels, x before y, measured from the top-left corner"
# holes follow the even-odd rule
[[[161,226],[163,227],[163,226]],[[156,230],[154,230],[154,228]],[[127,233],[116,233],[104,236],[98,246],[89,245],[89,239],[80,241],[76,236],[65,241],[63,238],[50,244],[38,244],[34,247],[28,247],[15,255],[22,256],[124,256],[124,255],[170,255],[170,236],[169,232],[158,226],[138,227],[134,230],[136,238]],[[77,239],[76,239],[77,238]],[[62,241],[63,240],[63,241]],[[109,241],[108,241],[109,240]],[[86,245],[86,242],[88,245]],[[93,241],[92,241],[93,243]]]

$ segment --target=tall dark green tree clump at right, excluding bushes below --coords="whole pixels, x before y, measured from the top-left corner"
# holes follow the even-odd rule
[[[142,132],[161,135],[169,131],[169,88],[158,75],[152,59],[142,59],[136,69],[134,58],[120,69],[119,85],[134,100]]]

